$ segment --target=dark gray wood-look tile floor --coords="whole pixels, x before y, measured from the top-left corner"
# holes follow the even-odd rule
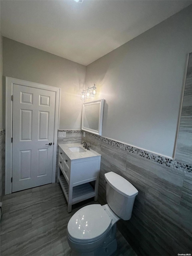
[[[3,197],[1,216],[2,255],[70,255],[67,223],[86,200],[67,212],[67,201],[58,183],[19,191]],[[117,230],[115,255],[136,255]]]

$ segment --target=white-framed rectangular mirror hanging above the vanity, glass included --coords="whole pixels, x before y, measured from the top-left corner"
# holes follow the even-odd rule
[[[103,110],[104,99],[83,103],[81,129],[102,135]]]

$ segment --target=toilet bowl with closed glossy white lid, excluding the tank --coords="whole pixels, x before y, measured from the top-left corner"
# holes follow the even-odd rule
[[[91,204],[81,208],[67,225],[67,241],[73,250],[71,255],[108,255],[109,251],[113,253],[114,246],[109,244],[116,237],[115,223],[119,219],[108,204]]]

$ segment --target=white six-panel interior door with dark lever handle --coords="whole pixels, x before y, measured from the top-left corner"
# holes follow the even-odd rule
[[[54,121],[55,92],[13,84],[12,192],[52,182]]]

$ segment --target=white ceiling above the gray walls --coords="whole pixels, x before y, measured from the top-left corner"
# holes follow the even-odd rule
[[[190,4],[185,0],[1,0],[1,35],[88,65]]]

